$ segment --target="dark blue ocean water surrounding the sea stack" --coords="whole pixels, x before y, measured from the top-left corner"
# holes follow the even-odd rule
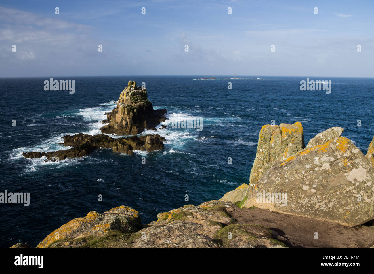
[[[374,136],[373,78],[309,77],[332,80],[331,94],[325,94],[300,91],[306,77],[194,80],[200,77],[53,77],[75,80],[74,94],[44,91],[49,77],[0,79],[0,192],[30,192],[31,200],[28,207],[0,204],[0,247],[19,241],[36,246],[54,229],[92,210],[126,205],[148,223],[157,213],[221,198],[248,183],[258,133],[272,119],[276,124],[300,121],[306,144],[329,127],[343,127],[343,136],[365,154]],[[143,133],[166,137],[163,151],[128,156],[100,149],[59,163],[22,157],[24,151],[66,149],[57,144],[66,134],[100,133],[104,112],[115,107],[130,79],[146,83],[154,108],[168,110],[170,119],[162,123],[167,129]],[[183,118],[201,118],[203,130],[171,128],[171,122]]]

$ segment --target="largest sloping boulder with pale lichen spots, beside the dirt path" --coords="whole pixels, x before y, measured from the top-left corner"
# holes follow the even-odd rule
[[[364,154],[349,139],[337,137],[273,165],[248,188],[245,207],[352,227],[374,219],[373,179]],[[286,199],[276,201],[278,194]]]

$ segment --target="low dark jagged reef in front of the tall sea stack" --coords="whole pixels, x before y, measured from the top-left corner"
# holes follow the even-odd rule
[[[151,152],[164,148],[165,137],[159,134],[148,134],[143,136],[131,136],[124,138],[112,138],[105,134],[89,135],[78,133],[74,136],[64,137],[64,146],[72,146],[71,149],[62,149],[52,152],[24,152],[26,158],[34,159],[46,156],[46,161],[61,161],[66,158],[79,158],[91,154],[95,149],[113,148],[113,152],[134,154],[134,150]]]

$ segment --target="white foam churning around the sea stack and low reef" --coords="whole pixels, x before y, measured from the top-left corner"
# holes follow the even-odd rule
[[[100,134],[100,128],[103,127],[102,120],[106,118],[104,115],[105,112],[110,112],[114,107],[115,104],[113,103],[114,101],[110,101],[107,103],[100,104],[98,107],[88,107],[85,109],[79,109],[75,111],[71,111],[69,113],[65,113],[64,115],[59,115],[57,117],[72,117],[72,116],[80,116],[83,121],[87,122],[88,129],[86,130],[79,130],[74,128],[74,132],[65,132],[61,133],[58,136],[53,136],[50,138],[47,138],[46,140],[43,140],[41,143],[34,145],[34,146],[26,146],[26,147],[19,147],[17,149],[13,149],[9,153],[9,160],[10,161],[15,161],[17,159],[23,158],[22,152],[30,152],[30,151],[45,151],[45,152],[50,152],[50,151],[55,151],[55,150],[60,150],[60,149],[69,149],[71,147],[64,147],[62,144],[62,139],[61,137],[69,134],[69,135],[74,135],[77,133],[83,133],[83,134],[90,134],[90,135],[95,135],[95,134]],[[158,108],[164,108],[167,107],[169,109],[173,109],[171,106],[155,106],[154,109]],[[195,106],[198,107],[198,106]],[[178,106],[174,106],[175,108],[179,108]],[[181,111],[175,111],[168,113],[166,117],[167,119],[164,122],[161,122],[160,125],[166,125],[166,128],[160,129],[160,130],[145,130],[143,133],[140,135],[145,135],[145,134],[160,134],[161,136],[166,138],[165,142],[165,150],[163,151],[163,154],[167,153],[178,153],[178,154],[185,154],[185,155],[195,155],[194,153],[188,153],[185,152],[185,146],[191,142],[198,141],[197,136],[198,132],[196,131],[196,128],[172,128],[171,124],[173,122],[178,122],[178,121],[184,121],[184,120],[195,120],[195,119],[200,119],[202,121],[203,125],[203,130],[205,126],[209,125],[223,125],[227,124],[224,121],[235,121],[236,119],[241,119],[240,117],[237,117],[235,115],[230,115],[229,117],[225,117],[223,119],[221,118],[206,118],[202,116],[197,116],[193,115],[193,113],[196,113],[196,110],[188,110],[188,112],[181,112]],[[66,115],[66,116],[65,116]],[[166,135],[168,134],[168,135]],[[121,136],[117,136],[115,134],[108,134],[109,136],[113,138],[119,138]],[[135,150],[135,154],[140,155],[140,156],[145,156],[148,154],[147,151],[140,151],[140,150]],[[127,155],[127,154],[126,154]],[[38,159],[28,159],[30,162],[30,165],[27,167],[27,171],[36,171],[38,169],[38,166],[42,167],[44,165],[67,165],[69,163],[73,164],[77,161],[79,161],[82,158],[69,158],[65,159],[64,161],[59,161],[58,162],[44,162],[46,160],[46,157],[38,158]],[[97,159],[95,159],[97,161]]]

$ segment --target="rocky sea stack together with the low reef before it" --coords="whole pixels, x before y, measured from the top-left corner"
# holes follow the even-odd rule
[[[101,128],[102,132],[114,133],[117,135],[138,134],[144,128],[156,130],[161,121],[165,121],[166,109],[153,110],[152,103],[147,99],[147,90],[136,86],[136,82],[129,81],[117,101],[117,107],[111,113],[107,113],[108,123]],[[165,127],[165,126],[164,126]],[[164,148],[165,137],[159,134],[147,134],[144,136],[130,136],[112,138],[105,134],[95,136],[78,133],[74,136],[66,135],[64,146],[71,146],[70,149],[62,149],[51,152],[24,152],[25,158],[41,158],[45,156],[46,161],[60,161],[66,158],[79,158],[91,154],[95,149],[113,148],[113,152],[127,153],[134,155],[134,150],[151,152]]]

